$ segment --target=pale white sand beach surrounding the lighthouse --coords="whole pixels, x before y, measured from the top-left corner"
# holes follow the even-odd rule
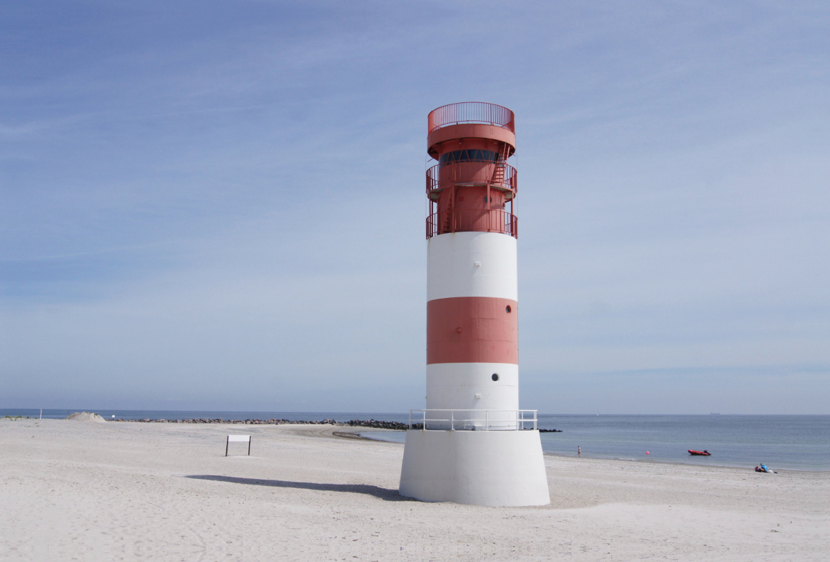
[[[827,472],[546,457],[551,506],[429,504],[333,430],[2,420],[0,560],[830,560]]]

